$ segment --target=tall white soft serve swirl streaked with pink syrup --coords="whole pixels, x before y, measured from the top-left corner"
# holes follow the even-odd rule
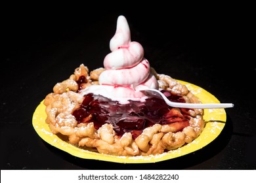
[[[99,85],[81,90],[81,94],[103,95],[119,103],[129,100],[144,101],[146,95],[140,88],[158,88],[158,81],[150,73],[150,63],[144,58],[139,42],[131,41],[129,25],[124,16],[117,18],[116,34],[110,40],[110,54],[104,58],[104,68]]]

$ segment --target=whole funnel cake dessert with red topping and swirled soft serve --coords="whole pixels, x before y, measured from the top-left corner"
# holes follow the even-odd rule
[[[171,101],[201,103],[171,76],[159,74],[131,41],[124,16],[117,18],[104,67],[81,64],[44,100],[46,123],[64,141],[114,156],[149,156],[177,149],[203,131],[203,110],[169,107],[143,88],[160,90]]]

